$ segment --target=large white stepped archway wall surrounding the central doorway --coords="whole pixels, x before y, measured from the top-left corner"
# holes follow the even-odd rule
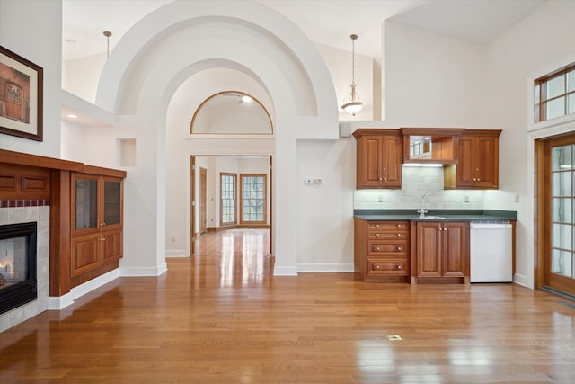
[[[174,96],[188,79],[222,63],[244,68],[269,95],[272,138],[190,137],[191,115],[217,89],[196,89],[186,105]],[[338,111],[323,59],[293,24],[257,3],[225,10],[210,2],[168,4],[119,42],[102,72],[96,103],[118,116],[114,133],[97,140],[137,143],[137,164],[128,169],[125,188],[122,274],[165,270],[166,227],[173,225],[166,222],[166,204],[186,203],[168,169],[189,174],[192,154],[273,156],[274,173],[281,174],[272,186],[278,202],[272,214],[275,273],[297,272],[296,140],[337,138]],[[180,124],[186,115],[187,123]]]

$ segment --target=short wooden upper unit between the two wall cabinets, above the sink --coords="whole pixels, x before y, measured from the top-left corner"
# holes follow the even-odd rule
[[[402,128],[403,163],[454,164],[460,128]]]

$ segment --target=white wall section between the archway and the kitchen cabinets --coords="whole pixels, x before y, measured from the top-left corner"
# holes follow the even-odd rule
[[[299,272],[353,272],[355,141],[297,141]],[[276,177],[281,175],[276,173]],[[307,178],[320,179],[321,183],[305,184]]]

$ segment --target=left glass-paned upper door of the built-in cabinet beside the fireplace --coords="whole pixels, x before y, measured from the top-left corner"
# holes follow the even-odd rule
[[[75,229],[98,226],[98,181],[75,179]]]

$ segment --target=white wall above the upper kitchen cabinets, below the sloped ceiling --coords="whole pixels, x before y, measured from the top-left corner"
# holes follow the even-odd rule
[[[396,127],[486,127],[486,49],[386,21],[385,123]]]

